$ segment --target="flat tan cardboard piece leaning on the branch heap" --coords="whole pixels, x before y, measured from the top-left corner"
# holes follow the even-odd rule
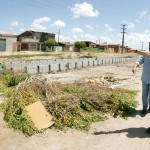
[[[26,110],[35,124],[35,127],[39,130],[48,128],[54,124],[52,120],[53,117],[46,111],[41,101],[26,106]]]

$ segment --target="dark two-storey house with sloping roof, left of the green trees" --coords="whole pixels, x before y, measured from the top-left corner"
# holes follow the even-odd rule
[[[45,50],[44,41],[55,40],[55,34],[37,31],[25,31],[17,36],[18,51]]]

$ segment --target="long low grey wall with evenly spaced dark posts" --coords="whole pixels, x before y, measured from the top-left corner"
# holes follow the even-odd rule
[[[29,74],[52,73],[57,71],[67,71],[84,67],[116,64],[136,60],[136,57],[102,57],[102,58],[74,58],[74,59],[50,59],[33,60],[21,62],[3,62],[8,70],[26,71]]]

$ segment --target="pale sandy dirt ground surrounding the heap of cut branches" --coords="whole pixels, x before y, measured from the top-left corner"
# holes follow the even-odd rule
[[[48,129],[43,134],[25,137],[22,133],[7,128],[3,114],[0,113],[0,150],[150,150],[150,134],[146,134],[146,129],[150,127],[150,113],[140,116],[142,67],[133,75],[133,63],[70,70],[49,74],[47,77],[61,82],[101,75],[122,79],[122,87],[139,91],[139,105],[135,116],[127,120],[110,117],[106,121],[92,124],[88,133],[76,130],[64,133]]]

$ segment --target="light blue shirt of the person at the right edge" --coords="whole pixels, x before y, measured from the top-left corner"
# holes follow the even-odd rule
[[[140,56],[136,63],[138,65],[143,64],[143,72],[141,77],[142,82],[150,84],[150,58]]]

